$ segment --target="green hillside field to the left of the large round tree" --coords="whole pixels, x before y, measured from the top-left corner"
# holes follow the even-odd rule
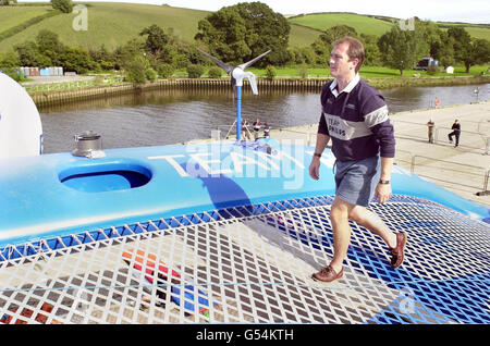
[[[47,7],[49,8],[49,7]],[[22,8],[23,11],[44,8]],[[0,9],[0,18],[5,9]],[[47,18],[41,23],[29,26],[22,33],[1,41],[0,51],[7,51],[13,45],[25,40],[33,40],[42,28],[48,28],[59,35],[62,42],[70,46],[84,48],[100,48],[101,44],[108,50],[125,44],[132,38],[138,37],[143,28],[157,24],[164,28],[173,28],[174,35],[187,42],[194,40],[197,33],[197,23],[209,12],[172,8],[168,5],[149,5],[134,3],[89,3],[88,7],[88,30],[76,32],[73,29],[73,21],[76,14],[60,14]],[[28,18],[28,17],[27,17]],[[27,20],[26,18],[26,20]],[[21,21],[17,18],[16,22]],[[19,24],[19,23],[16,23]],[[0,24],[0,32],[7,29],[4,23]]]

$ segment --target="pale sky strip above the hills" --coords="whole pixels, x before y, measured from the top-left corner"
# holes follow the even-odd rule
[[[42,2],[48,0],[19,0],[20,2]],[[133,2],[149,4],[169,4],[177,8],[218,11],[223,7],[253,0],[83,0],[81,2]],[[490,24],[489,0],[260,0],[274,12],[302,14],[314,12],[354,12],[358,14],[378,14],[408,20],[417,16],[421,20],[441,22],[465,22]]]

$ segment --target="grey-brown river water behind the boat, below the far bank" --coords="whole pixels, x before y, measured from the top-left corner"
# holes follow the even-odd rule
[[[476,94],[475,90],[479,92]],[[433,106],[490,99],[490,84],[453,87],[405,87],[381,90],[390,113]],[[211,131],[226,134],[236,118],[231,90],[167,89],[120,95],[40,109],[44,152],[71,151],[73,136],[91,129],[102,136],[105,149],[161,146],[209,138]],[[317,123],[319,92],[244,90],[242,116],[259,118],[271,128]]]

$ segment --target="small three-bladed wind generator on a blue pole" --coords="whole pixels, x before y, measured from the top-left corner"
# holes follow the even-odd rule
[[[255,79],[255,75],[252,72],[245,72],[247,67],[249,67],[253,63],[255,63],[257,60],[261,59],[262,57],[267,55],[270,50],[266,51],[265,53],[258,55],[257,58],[252,59],[248,62],[245,62],[241,65],[233,66],[230,64],[226,64],[222,62],[221,60],[208,54],[207,52],[200,50],[197,48],[197,50],[203,53],[204,55],[211,59],[218,66],[224,70],[228,74],[231,76],[231,86],[233,89],[233,95],[235,94],[236,88],[236,141],[240,143],[242,138],[242,86],[243,86],[243,79],[247,78],[250,83],[252,91],[254,95],[258,95],[257,90],[257,81]]]

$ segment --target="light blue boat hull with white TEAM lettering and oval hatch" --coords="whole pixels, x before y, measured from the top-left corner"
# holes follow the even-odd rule
[[[98,159],[53,153],[2,160],[0,246],[221,208],[334,194],[330,151],[320,181],[314,148],[260,140],[109,149]],[[394,195],[427,199],[475,220],[489,209],[394,168]]]

